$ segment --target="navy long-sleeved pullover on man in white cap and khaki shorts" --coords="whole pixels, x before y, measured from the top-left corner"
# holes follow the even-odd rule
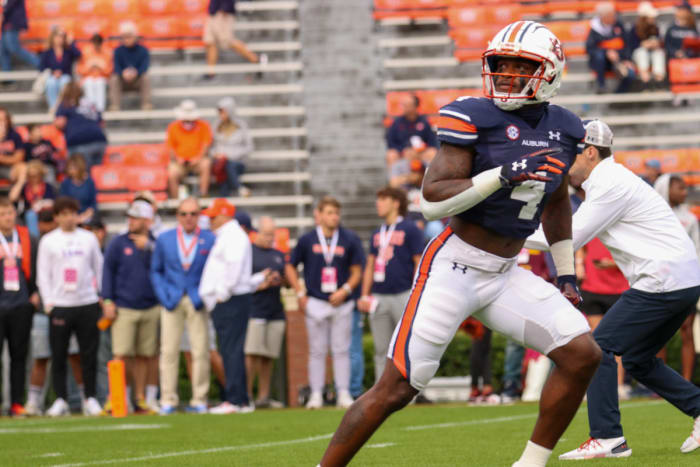
[[[102,298],[134,310],[158,304],[149,274],[154,243],[152,238],[144,250],[139,250],[128,233],[114,237],[105,252]]]

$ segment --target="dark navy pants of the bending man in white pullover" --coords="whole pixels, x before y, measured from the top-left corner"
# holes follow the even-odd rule
[[[605,313],[593,332],[603,359],[588,387],[592,438],[622,436],[615,355],[630,376],[686,415],[700,416],[700,388],[656,357],[695,311],[698,297],[700,286],[665,293],[629,289]]]

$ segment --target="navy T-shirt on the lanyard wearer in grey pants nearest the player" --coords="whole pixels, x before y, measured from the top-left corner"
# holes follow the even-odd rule
[[[370,238],[369,254],[375,257],[379,255],[379,242],[380,235],[377,229]],[[415,222],[404,219],[396,224],[389,246],[384,252],[385,279],[383,282],[372,284],[372,293],[397,294],[409,290],[413,285],[415,269],[413,257],[420,256],[424,246],[423,232]]]

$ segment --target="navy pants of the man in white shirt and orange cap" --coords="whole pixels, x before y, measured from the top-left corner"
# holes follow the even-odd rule
[[[233,405],[249,405],[243,346],[250,316],[250,294],[234,295],[217,303],[211,312],[219,340],[219,353],[226,373],[226,401]]]

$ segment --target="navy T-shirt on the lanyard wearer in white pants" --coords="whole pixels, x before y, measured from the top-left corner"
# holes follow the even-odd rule
[[[350,278],[350,266],[362,267],[364,261],[365,253],[357,234],[343,227],[338,227],[338,245],[330,264],[338,270],[338,288],[342,287]],[[304,282],[308,295],[328,301],[330,294],[321,292],[321,270],[326,267],[326,260],[323,258],[321,244],[318,243],[316,229],[299,238],[297,245],[292,250],[290,262],[295,267],[299,263],[304,263]]]

